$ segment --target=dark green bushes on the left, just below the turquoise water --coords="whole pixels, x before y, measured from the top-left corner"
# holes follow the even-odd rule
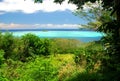
[[[0,33],[0,50],[4,51],[5,59],[26,61],[35,55],[50,55],[52,53],[50,39],[40,39],[36,35],[26,34],[20,38],[12,33]]]

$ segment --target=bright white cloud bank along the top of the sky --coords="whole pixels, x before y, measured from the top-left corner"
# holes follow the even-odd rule
[[[37,11],[54,12],[64,10],[75,10],[76,6],[68,4],[67,1],[62,5],[53,3],[53,0],[44,0],[43,3],[34,3],[34,0],[3,0],[0,2],[0,11],[35,13]]]

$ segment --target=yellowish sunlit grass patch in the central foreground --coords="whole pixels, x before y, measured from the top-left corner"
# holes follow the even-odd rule
[[[56,57],[52,57],[51,64],[59,68],[59,81],[65,81],[76,72],[81,73],[84,71],[82,67],[75,64],[74,54],[58,54]]]

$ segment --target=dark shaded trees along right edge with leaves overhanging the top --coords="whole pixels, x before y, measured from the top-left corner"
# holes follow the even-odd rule
[[[42,3],[43,0],[34,0],[34,1]],[[62,4],[62,2],[64,1],[65,0],[54,0],[55,3],[60,3],[60,4]],[[75,4],[78,7],[78,10],[82,9],[83,5],[88,2],[95,4],[96,2],[100,2],[101,5],[99,6],[99,8],[101,8],[102,10],[101,11],[96,8],[94,9],[95,12],[96,11],[100,12],[100,15],[98,16],[97,19],[93,20],[93,22],[88,23],[88,26],[92,26],[92,28],[95,27],[97,28],[97,31],[104,32],[106,34],[106,36],[102,40],[106,52],[104,53],[105,57],[102,59],[102,67],[99,73],[101,73],[101,75],[109,76],[111,79],[108,81],[119,81],[120,79],[119,76],[120,0],[68,0],[68,3]],[[90,13],[91,12],[93,13],[93,11],[90,11]],[[103,12],[105,12],[105,14]],[[94,15],[92,14],[91,16],[92,18],[94,17]]]

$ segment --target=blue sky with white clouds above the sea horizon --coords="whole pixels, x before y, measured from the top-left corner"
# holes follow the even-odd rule
[[[0,28],[78,28],[86,22],[73,15],[76,6],[53,0],[0,0]]]

